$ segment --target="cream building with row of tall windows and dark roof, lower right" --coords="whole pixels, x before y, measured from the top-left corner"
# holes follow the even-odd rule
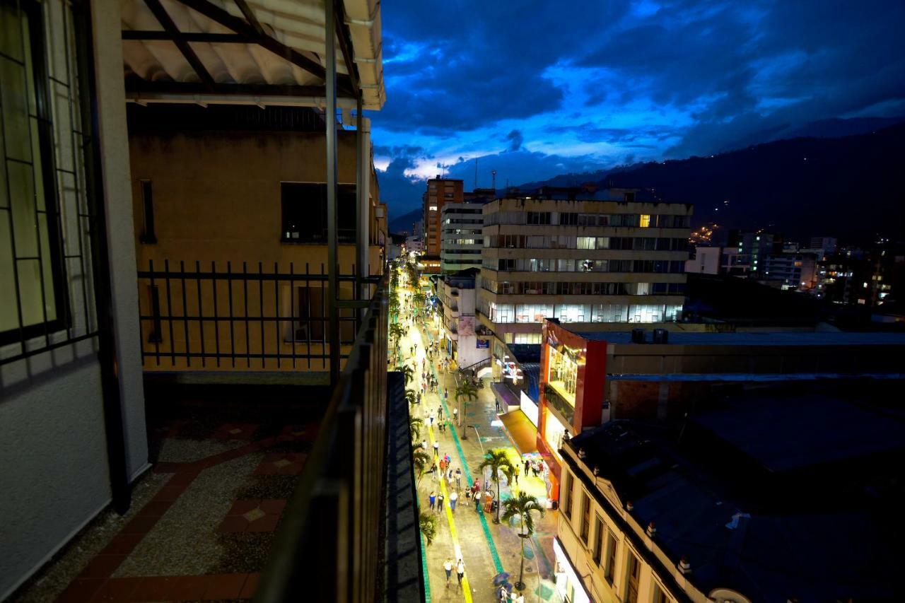
[[[557,589],[570,601],[900,598],[905,426],[824,393],[732,397],[677,429],[567,440]]]

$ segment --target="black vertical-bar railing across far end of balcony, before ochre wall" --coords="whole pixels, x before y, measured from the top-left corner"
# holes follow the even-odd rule
[[[148,262],[138,271],[141,356],[145,369],[287,370],[329,368],[328,275],[262,263]],[[376,278],[366,277],[371,292]],[[356,275],[338,276],[351,300]],[[340,358],[360,326],[339,310]]]

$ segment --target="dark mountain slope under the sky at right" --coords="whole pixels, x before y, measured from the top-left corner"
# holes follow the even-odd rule
[[[814,132],[883,123],[814,122]],[[823,135],[821,135],[823,136]],[[653,188],[666,201],[693,203],[693,225],[767,228],[786,239],[838,236],[867,243],[905,235],[905,123],[840,138],[784,139],[713,155],[568,174],[519,188]]]

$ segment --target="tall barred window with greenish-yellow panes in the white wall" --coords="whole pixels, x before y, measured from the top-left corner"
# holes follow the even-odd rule
[[[61,330],[66,315],[41,5],[0,2],[0,343]]]

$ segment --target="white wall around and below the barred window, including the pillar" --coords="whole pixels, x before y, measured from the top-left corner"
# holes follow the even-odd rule
[[[48,68],[62,80],[66,73],[64,40],[72,41],[71,24],[62,0],[44,7]],[[138,349],[138,292],[132,238],[129,147],[125,120],[119,3],[92,2],[98,103],[101,111],[105,211],[110,244],[110,273],[115,313],[117,373],[123,405],[127,470],[132,479],[148,467],[141,359]],[[74,52],[69,56],[74,60]],[[71,66],[72,73],[74,68]],[[74,89],[74,87],[73,87]],[[79,170],[80,154],[71,146],[65,95],[52,95],[54,149],[57,166]],[[76,124],[78,126],[78,124]],[[73,165],[74,164],[74,165]],[[79,247],[87,229],[78,214],[85,199],[62,177],[59,192],[62,231],[67,253]],[[71,335],[96,330],[90,244],[82,240],[86,261],[66,263]],[[85,283],[88,296],[82,294]],[[84,311],[88,308],[87,316]],[[86,321],[87,319],[87,321]],[[52,342],[65,338],[53,333]],[[43,339],[28,342],[28,349]],[[0,349],[10,358],[17,345]],[[83,340],[29,359],[0,365],[0,599],[6,598],[40,569],[85,524],[110,502],[110,476],[104,430],[97,340]]]

